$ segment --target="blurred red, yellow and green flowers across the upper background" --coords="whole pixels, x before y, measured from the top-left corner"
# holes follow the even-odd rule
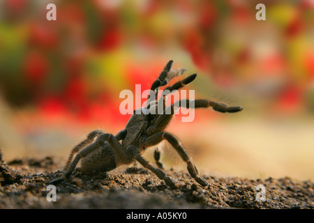
[[[55,1],[47,21],[41,1],[4,1],[1,95],[45,122],[124,125],[119,92],[149,89],[174,59],[199,74],[200,96],[233,89],[245,105],[249,89],[265,113],[313,112],[313,3],[266,1],[266,21],[255,20],[257,3]]]

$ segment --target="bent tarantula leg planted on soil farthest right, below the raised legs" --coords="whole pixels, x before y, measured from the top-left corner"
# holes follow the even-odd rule
[[[190,176],[192,176],[195,179],[195,181],[200,185],[207,186],[208,185],[207,181],[204,180],[202,177],[198,176],[197,168],[195,167],[195,164],[193,164],[193,162],[191,161],[188,153],[186,153],[186,150],[182,146],[181,141],[170,132],[157,132],[156,134],[147,137],[147,139],[144,141],[143,146],[145,147],[154,146],[160,143],[160,141],[163,141],[164,139],[171,144],[171,146],[177,151],[177,153],[179,153],[182,160],[186,162]]]

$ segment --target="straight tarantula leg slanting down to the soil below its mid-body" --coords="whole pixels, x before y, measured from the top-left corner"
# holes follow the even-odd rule
[[[143,167],[149,169],[154,174],[156,174],[156,176],[158,176],[160,180],[164,180],[169,187],[174,187],[173,180],[169,176],[167,176],[162,170],[152,166],[147,160],[145,160],[144,157],[142,157],[140,151],[135,146],[133,145],[128,146],[128,148],[126,148],[126,151],[130,156],[134,157],[135,160],[140,162],[140,164],[142,164]]]

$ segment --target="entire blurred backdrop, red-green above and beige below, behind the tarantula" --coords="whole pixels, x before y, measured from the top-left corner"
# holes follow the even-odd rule
[[[149,89],[170,59],[197,72],[195,98],[244,107],[174,116],[168,131],[202,174],[314,178],[313,0],[0,0],[3,157],[66,162],[91,130],[116,134],[130,117],[119,93]],[[185,169],[168,147],[166,167]]]

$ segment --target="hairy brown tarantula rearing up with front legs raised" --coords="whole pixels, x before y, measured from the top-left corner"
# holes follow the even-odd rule
[[[103,132],[103,130],[95,130],[90,132],[87,139],[84,139],[80,144],[73,148],[68,157],[66,167],[63,169],[64,174],[60,178],[50,181],[50,184],[57,185],[63,180],[70,177],[75,170],[77,163],[81,160],[81,167],[78,168],[82,173],[93,171],[107,172],[121,166],[122,164],[131,164],[132,162],[140,162],[143,167],[152,171],[160,180],[164,180],[169,187],[175,187],[174,180],[167,176],[163,171],[163,164],[160,162],[160,151],[158,147],[154,151],[154,159],[157,167],[154,167],[150,162],[144,159],[142,154],[148,147],[156,146],[161,141],[166,140],[179,153],[180,157],[186,162],[188,173],[194,180],[202,186],[207,186],[208,183],[204,178],[200,177],[197,167],[193,164],[190,156],[182,146],[181,141],[174,134],[165,131],[167,125],[174,116],[174,109],[186,107],[188,109],[212,107],[217,112],[240,112],[241,107],[227,107],[221,102],[212,100],[189,100],[183,99],[174,102],[172,105],[165,107],[165,96],[168,93],[181,89],[186,84],[193,82],[196,74],[190,75],[185,79],[167,86],[162,97],[158,99],[158,89],[160,86],[165,86],[173,77],[182,75],[185,69],[171,70],[173,61],[169,61],[158,79],[151,85],[151,92],[154,95],[149,95],[147,98],[146,107],[142,107],[134,111],[130,116],[126,128],[118,132],[117,135]],[[193,102],[193,103],[192,103]],[[163,112],[147,112],[158,109],[159,105],[164,105]],[[194,106],[190,106],[194,105]],[[73,160],[73,156],[77,153]],[[73,161],[72,161],[73,160]]]

